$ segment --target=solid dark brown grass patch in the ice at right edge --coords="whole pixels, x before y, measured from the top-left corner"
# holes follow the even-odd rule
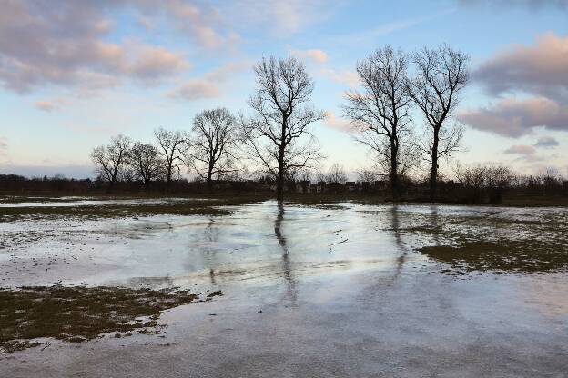
[[[568,268],[566,246],[542,241],[465,242],[424,246],[418,250],[437,261],[450,264],[455,273],[544,273]]]

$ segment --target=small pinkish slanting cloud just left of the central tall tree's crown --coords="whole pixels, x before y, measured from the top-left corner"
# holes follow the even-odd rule
[[[221,65],[217,69],[209,71],[203,77],[188,80],[170,91],[167,96],[185,101],[218,97],[221,95],[220,85],[225,84],[230,77],[248,69],[250,66],[248,61]]]

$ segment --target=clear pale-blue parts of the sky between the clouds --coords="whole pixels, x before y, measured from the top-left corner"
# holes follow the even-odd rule
[[[216,6],[221,15],[227,11],[225,8],[230,8],[227,5],[223,8],[221,3]],[[308,5],[305,9],[303,16],[311,19],[288,20],[289,24],[296,25],[293,30],[280,30],[278,25],[272,30],[261,22],[259,15],[249,15],[245,20],[246,12],[227,17],[227,27],[240,35],[238,45],[231,52],[203,52],[187,38],[167,38],[171,35],[166,32],[160,35],[143,30],[134,22],[135,15],[125,12],[108,15],[114,21],[114,28],[107,35],[108,41],[130,38],[181,50],[192,68],[174,83],[148,87],[126,82],[84,97],[76,96],[73,88],[57,86],[37,88],[29,94],[0,90],[0,137],[7,144],[7,148],[0,151],[0,173],[55,174],[60,171],[74,176],[90,174],[90,149],[95,144],[106,143],[112,134],[123,133],[137,140],[150,141],[152,130],[157,126],[188,130],[194,114],[204,108],[223,105],[235,112],[246,112],[247,97],[254,88],[250,69],[231,75],[222,84],[218,98],[182,102],[166,95],[172,85],[204,75],[228,62],[246,62],[245,65],[250,66],[262,55],[281,56],[292,50],[320,49],[329,56],[328,61],[307,62],[316,81],[314,103],[340,116],[341,97],[348,88],[342,74],[353,71],[356,61],[371,48],[391,44],[408,51],[421,45],[448,43],[472,55],[475,66],[511,45],[532,45],[536,35],[547,31],[563,35],[567,31],[566,13],[557,9],[463,7],[449,0],[345,2],[314,14],[309,13]],[[475,84],[463,97],[462,109],[487,105],[491,101]],[[66,98],[67,104],[53,112],[41,111],[32,105],[53,98]],[[418,121],[420,117],[416,119]],[[366,151],[354,144],[347,134],[324,124],[315,127],[315,134],[328,156],[328,164],[337,161],[350,171],[368,164]],[[568,144],[568,137],[560,132],[536,130],[535,134],[512,140],[470,129],[465,139],[468,152],[459,157],[464,163],[502,161],[522,170],[553,164],[563,167],[567,156],[559,152],[562,148],[543,150],[533,162],[502,154],[512,144],[534,144],[544,134],[556,137],[561,146]],[[19,165],[27,168],[17,167]]]

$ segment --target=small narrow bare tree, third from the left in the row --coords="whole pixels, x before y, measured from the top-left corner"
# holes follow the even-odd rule
[[[162,127],[155,130],[154,135],[166,170],[166,190],[169,190],[172,176],[179,174],[180,164],[183,163],[183,150],[187,138],[180,131],[169,131]]]

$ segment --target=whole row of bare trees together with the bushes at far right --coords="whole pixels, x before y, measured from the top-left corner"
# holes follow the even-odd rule
[[[513,187],[544,194],[562,188],[558,174],[521,177],[495,166],[462,168],[455,182],[444,179],[441,161],[448,163],[462,144],[464,128],[453,115],[468,83],[469,61],[447,45],[411,54],[387,45],[357,63],[360,86],[345,94],[341,107],[355,141],[370,151],[373,168],[360,172],[359,186],[346,184],[340,164],[321,170],[325,156],[311,125],[327,114],[311,104],[313,80],[294,57],[263,58],[254,66],[257,86],[248,113],[205,110],[188,130],[158,128],[147,142],[117,135],[96,146],[96,181],[86,184],[109,192],[266,189],[282,200],[285,192],[298,191],[297,183],[314,181],[336,193],[374,191],[395,201],[409,193],[436,201],[443,194],[461,202],[499,202]],[[196,179],[189,183],[184,174]],[[448,188],[458,192],[450,195]]]

